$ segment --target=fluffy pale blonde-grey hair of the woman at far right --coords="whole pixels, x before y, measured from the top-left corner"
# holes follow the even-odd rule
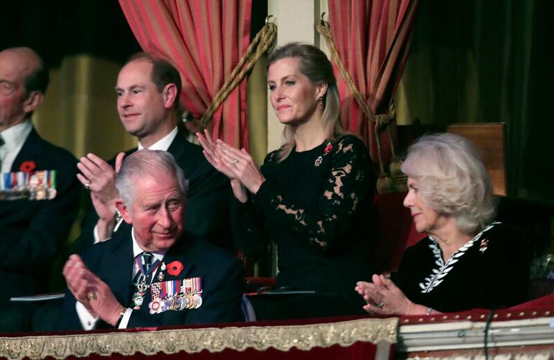
[[[479,150],[456,134],[422,136],[408,149],[402,172],[419,182],[425,203],[454,217],[458,227],[474,234],[496,214],[492,180]]]

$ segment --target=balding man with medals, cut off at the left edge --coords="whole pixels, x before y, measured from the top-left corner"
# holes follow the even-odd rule
[[[44,141],[30,120],[47,86],[48,69],[33,50],[0,52],[0,332],[29,329],[33,306],[10,298],[47,291],[77,215],[77,160]]]

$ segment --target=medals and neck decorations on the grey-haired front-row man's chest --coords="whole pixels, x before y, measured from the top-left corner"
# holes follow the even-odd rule
[[[141,309],[144,303],[144,295],[149,285],[146,284],[146,278],[154,272],[160,265],[156,260],[152,263],[148,271],[145,271],[139,258],[136,258],[141,275],[136,283],[136,291],[133,295],[133,309]],[[166,263],[162,262],[158,281],[150,285],[150,295],[152,301],[148,304],[150,314],[160,314],[168,310],[198,309],[202,306],[202,284],[200,278],[188,278],[179,280],[163,281],[163,271],[166,271]]]

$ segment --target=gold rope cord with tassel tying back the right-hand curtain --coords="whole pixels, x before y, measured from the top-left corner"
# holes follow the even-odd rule
[[[377,157],[379,158],[378,159],[379,169],[381,171],[381,174],[379,174],[379,179],[377,180],[377,190],[379,190],[379,192],[393,190],[394,188],[393,181],[392,179],[390,179],[390,177],[388,177],[388,174],[386,173],[384,168],[383,156],[382,156],[382,145],[381,145],[381,138],[379,137],[379,132],[381,132],[382,129],[386,128],[388,138],[389,138],[389,143],[391,144],[392,159],[395,159],[395,161],[397,161],[398,157],[396,156],[396,152],[393,144],[393,138],[391,137],[391,130],[389,129],[389,124],[394,119],[395,111],[391,105],[391,108],[389,109],[388,114],[373,114],[373,111],[368,106],[366,99],[359,92],[354,80],[352,80],[352,77],[350,76],[350,73],[348,73],[348,69],[346,69],[346,66],[341,60],[341,57],[339,56],[339,52],[337,51],[337,46],[334,45],[334,41],[331,37],[330,24],[328,21],[323,20],[323,15],[325,15],[325,12],[321,14],[321,21],[317,26],[317,30],[321,35],[323,35],[323,37],[325,37],[325,42],[327,43],[329,51],[331,52],[331,56],[334,60],[334,63],[337,64],[339,71],[341,71],[341,74],[344,80],[346,81],[346,84],[348,85],[348,89],[350,89],[352,96],[354,96],[354,98],[356,99],[356,102],[358,103],[361,111],[364,113],[366,118],[368,118],[370,121],[375,123],[375,132],[374,132],[375,143],[377,144]],[[382,184],[379,184],[379,180],[382,180]]]

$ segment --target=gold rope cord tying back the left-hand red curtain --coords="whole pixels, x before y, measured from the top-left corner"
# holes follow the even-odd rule
[[[265,19],[265,26],[256,34],[256,37],[252,40],[247,48],[246,53],[242,55],[242,58],[235,66],[235,69],[229,75],[229,78],[224,82],[221,89],[215,94],[212,103],[206,109],[206,112],[200,119],[202,128],[206,128],[213,118],[215,111],[222,105],[227,96],[235,89],[235,87],[242,82],[244,76],[251,71],[260,57],[267,51],[269,46],[273,44],[277,36],[277,25],[273,22],[269,22],[269,15]],[[256,49],[256,50],[255,50]]]

